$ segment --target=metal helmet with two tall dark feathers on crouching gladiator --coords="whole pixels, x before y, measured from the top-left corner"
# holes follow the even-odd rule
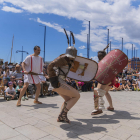
[[[74,45],[75,45],[75,39],[74,39],[73,32],[70,31],[71,36],[72,36],[72,39],[73,39],[73,46],[69,46],[69,38],[68,38],[68,35],[67,35],[67,32],[66,32],[65,29],[64,29],[64,32],[66,34],[67,41],[68,41],[68,47],[66,49],[65,55],[67,57],[70,57],[70,58],[76,58],[76,56],[77,56],[77,49],[74,47]]]

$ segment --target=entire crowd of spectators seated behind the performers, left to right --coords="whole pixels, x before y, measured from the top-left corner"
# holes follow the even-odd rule
[[[41,91],[40,97],[44,95],[52,96],[55,92],[52,92],[49,77],[47,75],[47,66],[44,65],[43,73],[44,76],[40,76],[41,80]],[[140,91],[140,70],[128,69],[127,67],[116,76],[116,82],[110,89],[111,91]],[[17,99],[20,95],[20,91],[24,84],[24,74],[22,73],[22,66],[20,64],[12,64],[5,62],[0,65],[0,93],[5,94],[6,100]],[[90,82],[76,81],[70,78],[66,79],[67,84],[73,88],[86,92],[92,91],[94,87],[97,87],[98,82],[93,80]],[[27,92],[22,97],[22,100],[28,100],[28,94],[35,98],[36,87],[34,84],[29,84]]]

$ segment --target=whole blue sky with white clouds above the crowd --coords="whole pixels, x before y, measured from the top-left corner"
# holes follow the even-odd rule
[[[131,58],[132,43],[139,55],[139,5],[138,0],[0,0],[0,58],[10,61],[13,34],[12,62],[21,61],[21,53],[16,50],[22,46],[32,54],[33,47],[39,45],[43,57],[44,27],[39,25],[46,25],[46,61],[65,53],[68,45],[63,28],[74,32],[78,55],[87,57],[88,22],[84,19],[91,21],[90,57],[94,60],[97,51],[107,45],[107,29],[112,49],[121,49],[123,37],[123,50],[125,53],[129,50],[128,57]]]

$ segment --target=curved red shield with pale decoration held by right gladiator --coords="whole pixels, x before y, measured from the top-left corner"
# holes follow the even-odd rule
[[[95,79],[107,85],[128,64],[128,57],[121,50],[110,51],[99,63]]]

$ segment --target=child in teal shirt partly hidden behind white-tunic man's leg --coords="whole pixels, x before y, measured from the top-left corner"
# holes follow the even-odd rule
[[[23,81],[19,80],[18,85],[16,87],[16,94],[18,95],[18,97],[20,95],[20,91],[21,91],[22,88],[23,88]],[[25,99],[28,100],[28,97],[26,96],[26,93],[22,97],[22,101],[25,101]]]

